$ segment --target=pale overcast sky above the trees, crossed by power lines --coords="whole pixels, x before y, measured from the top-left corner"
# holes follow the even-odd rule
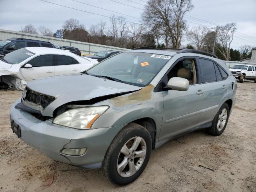
[[[94,8],[72,0],[46,0],[69,6],[72,8],[93,12],[110,16],[113,12]],[[143,12],[146,0],[77,0],[115,12],[120,12],[129,16],[125,16],[127,21],[140,22],[140,15]],[[126,6],[123,4],[130,6]],[[138,4],[139,3],[139,4]],[[235,33],[232,43],[233,48],[239,48],[242,44],[250,44],[256,46],[256,0],[192,0],[194,9],[187,15],[214,22],[216,24],[226,24],[235,22],[237,24],[237,31],[242,33]],[[62,28],[63,22],[69,18],[76,18],[81,24],[89,29],[92,24],[98,23],[100,20],[109,22],[109,18],[98,16],[70,8],[61,7],[58,5],[42,2],[40,0],[0,0],[0,28],[6,30],[20,30],[20,28],[32,24],[35,28],[40,25],[51,28],[54,32]],[[116,14],[116,16],[124,16]],[[198,26],[204,24],[215,27],[214,24],[199,22],[196,20],[186,18],[188,25]],[[196,24],[194,24],[196,23]],[[243,35],[245,34],[245,35]],[[250,36],[250,37],[248,37]]]

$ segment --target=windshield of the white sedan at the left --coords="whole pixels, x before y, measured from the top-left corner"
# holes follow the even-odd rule
[[[30,52],[26,48],[22,48],[2,56],[1,60],[8,62],[9,64],[18,64],[32,55],[34,55],[33,52]]]

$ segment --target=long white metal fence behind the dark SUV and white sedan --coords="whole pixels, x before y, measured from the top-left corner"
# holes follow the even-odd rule
[[[94,54],[99,51],[106,51],[106,50],[117,50],[117,51],[129,50],[129,49],[120,48],[120,47],[112,47],[112,46],[107,46],[107,45],[86,43],[86,42],[81,42],[81,41],[60,39],[60,38],[55,38],[55,37],[48,37],[48,36],[35,35],[35,34],[0,29],[0,40],[4,40],[4,39],[8,39],[8,38],[27,38],[27,39],[48,41],[48,42],[51,42],[52,44],[58,45],[58,46],[76,47],[83,54]]]

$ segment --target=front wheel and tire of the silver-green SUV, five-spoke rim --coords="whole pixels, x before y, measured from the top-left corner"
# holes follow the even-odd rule
[[[134,151],[132,147],[136,143],[135,140],[140,143]],[[121,152],[121,149],[125,151],[126,155]],[[102,163],[102,173],[114,184],[129,184],[142,174],[148,164],[151,150],[152,140],[146,128],[136,123],[130,123],[116,135],[110,144]],[[138,157],[139,155],[144,157]],[[126,164],[126,162],[128,163]],[[124,166],[120,166],[121,163]]]

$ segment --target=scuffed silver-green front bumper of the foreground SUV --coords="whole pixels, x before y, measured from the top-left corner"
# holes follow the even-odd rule
[[[20,102],[17,100],[10,110],[10,119],[18,124],[21,139],[46,154],[52,160],[81,166],[84,168],[101,168],[108,146],[121,130],[122,126],[78,130],[52,124],[51,121],[41,121],[30,113],[14,108]],[[82,156],[60,154],[63,148],[87,148]]]

